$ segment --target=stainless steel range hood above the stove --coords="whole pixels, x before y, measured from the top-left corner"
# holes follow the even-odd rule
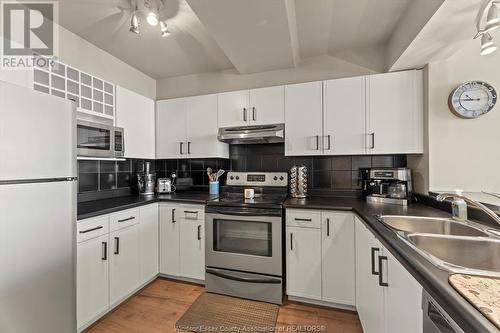
[[[232,144],[284,142],[285,124],[219,128],[217,138]]]

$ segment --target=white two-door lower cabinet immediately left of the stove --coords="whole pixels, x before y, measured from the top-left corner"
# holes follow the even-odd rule
[[[205,280],[205,207],[160,203],[160,273]]]

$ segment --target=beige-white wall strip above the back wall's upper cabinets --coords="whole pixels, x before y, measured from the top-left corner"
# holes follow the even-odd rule
[[[157,99],[372,74],[373,70],[328,55],[307,58],[297,67],[255,74],[223,71],[157,81]]]

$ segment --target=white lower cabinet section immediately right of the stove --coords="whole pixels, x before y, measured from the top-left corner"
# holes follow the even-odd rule
[[[354,215],[286,211],[287,295],[355,305]]]

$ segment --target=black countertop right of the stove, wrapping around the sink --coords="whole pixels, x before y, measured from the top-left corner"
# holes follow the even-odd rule
[[[335,197],[290,198],[285,201],[284,207],[353,211],[465,332],[498,332],[486,317],[450,286],[449,272],[432,265],[375,218],[379,214],[450,217],[450,213],[419,203],[403,207],[370,204],[361,199]]]

